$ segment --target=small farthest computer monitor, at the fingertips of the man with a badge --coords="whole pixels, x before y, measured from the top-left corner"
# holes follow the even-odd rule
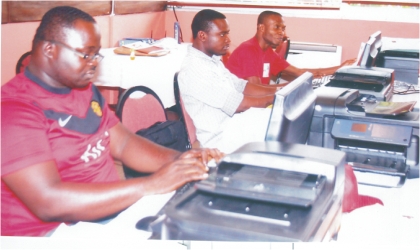
[[[357,66],[370,68],[375,65],[376,56],[381,51],[382,33],[377,31],[370,35],[366,43],[362,43],[362,54],[358,60]]]

